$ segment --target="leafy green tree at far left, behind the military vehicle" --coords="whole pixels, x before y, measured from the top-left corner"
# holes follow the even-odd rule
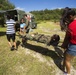
[[[0,0],[0,11],[14,9],[15,6],[9,0]],[[4,26],[4,13],[0,13],[0,25]]]

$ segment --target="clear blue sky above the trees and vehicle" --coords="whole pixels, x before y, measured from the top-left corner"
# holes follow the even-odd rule
[[[16,8],[26,12],[33,10],[76,8],[76,0],[9,0]]]

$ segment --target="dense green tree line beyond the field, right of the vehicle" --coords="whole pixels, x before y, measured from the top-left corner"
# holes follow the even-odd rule
[[[40,11],[31,11],[35,16],[36,21],[60,21],[60,18],[62,16],[63,9],[54,9],[54,10],[40,10]],[[72,8],[76,11],[76,8]]]

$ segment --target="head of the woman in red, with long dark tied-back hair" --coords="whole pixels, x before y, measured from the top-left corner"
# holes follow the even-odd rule
[[[61,29],[66,30],[69,23],[73,21],[74,16],[75,16],[75,11],[69,7],[66,7],[63,10],[62,17],[60,20]]]

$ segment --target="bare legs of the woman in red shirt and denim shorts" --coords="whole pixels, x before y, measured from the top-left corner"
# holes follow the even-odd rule
[[[71,56],[70,54],[68,53],[65,53],[64,55],[64,70],[66,68],[66,71],[68,74],[70,74],[70,68],[71,68],[71,60],[73,59],[73,56]]]

